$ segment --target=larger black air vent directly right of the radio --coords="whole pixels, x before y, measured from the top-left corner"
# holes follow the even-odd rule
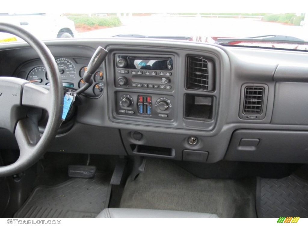
[[[213,61],[200,56],[187,57],[187,88],[213,90]]]

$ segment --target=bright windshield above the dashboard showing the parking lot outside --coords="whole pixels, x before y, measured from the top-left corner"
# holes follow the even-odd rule
[[[42,40],[128,37],[307,50],[307,10],[283,14],[1,13],[0,23],[21,26]],[[0,33],[0,43],[18,41],[22,40]]]

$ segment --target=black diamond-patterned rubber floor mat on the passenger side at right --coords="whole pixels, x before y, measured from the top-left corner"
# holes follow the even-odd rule
[[[308,182],[294,175],[259,178],[257,214],[261,218],[308,217]]]

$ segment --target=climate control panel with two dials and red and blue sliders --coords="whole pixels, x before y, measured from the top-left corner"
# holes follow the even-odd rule
[[[172,95],[116,92],[117,115],[172,120],[174,97]]]

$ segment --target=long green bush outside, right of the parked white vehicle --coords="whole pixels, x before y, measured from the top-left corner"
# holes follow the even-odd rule
[[[116,16],[108,16],[108,17],[89,17],[87,15],[69,15],[69,19],[75,22],[75,25],[87,25],[87,26],[121,26],[121,20]]]

